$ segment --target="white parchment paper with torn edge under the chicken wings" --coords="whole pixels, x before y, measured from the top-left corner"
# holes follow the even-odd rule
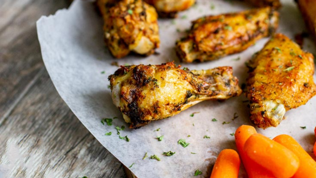
[[[306,31],[301,14],[293,0],[282,1],[281,20],[278,32],[294,39],[294,35]],[[214,9],[211,8],[214,6]],[[203,175],[210,176],[216,156],[222,149],[236,149],[234,133],[242,124],[251,124],[249,109],[244,95],[225,102],[204,101],[180,114],[161,121],[155,121],[140,129],[128,129],[119,110],[112,104],[110,89],[107,87],[108,75],[118,69],[111,63],[125,64],[161,64],[167,61],[179,60],[175,55],[176,39],[185,36],[185,30],[190,28],[190,21],[200,16],[227,13],[250,9],[251,6],[239,1],[197,0],[197,5],[181,12],[175,20],[159,20],[161,47],[157,49],[160,55],[143,58],[129,55],[124,59],[113,59],[103,42],[101,17],[95,12],[94,5],[89,1],[76,0],[68,10],[58,10],[55,15],[41,17],[37,22],[38,38],[47,71],[60,96],[79,118],[82,124],[138,178],[181,178],[193,177],[199,169]],[[177,32],[179,30],[180,32]],[[268,38],[258,41],[254,46],[240,54],[230,55],[220,60],[200,64],[183,64],[189,69],[208,69],[218,66],[233,66],[234,75],[240,79],[240,85],[245,82],[247,69],[245,61],[260,50]],[[304,49],[315,54],[312,40],[304,40]],[[240,57],[240,60],[234,60]],[[102,74],[102,71],[105,71]],[[315,79],[315,77],[314,77]],[[277,127],[266,130],[257,129],[267,137],[278,134],[289,134],[301,143],[311,154],[313,143],[313,128],[316,125],[316,97],[306,105],[288,111],[286,119]],[[199,112],[190,117],[193,112]],[[232,120],[234,113],[239,116]],[[103,125],[102,118],[113,118],[113,125]],[[217,122],[211,120],[216,118]],[[222,122],[230,124],[222,124]],[[130,142],[119,139],[115,126],[126,127],[120,131],[121,136],[127,135]],[[306,126],[306,129],[300,128]],[[159,131],[154,131],[161,128]],[[65,130],[67,131],[67,130]],[[111,136],[105,136],[112,131]],[[158,141],[156,136],[164,136]],[[190,135],[191,137],[187,137]],[[204,136],[210,138],[203,138]],[[190,145],[183,148],[178,145],[179,139],[185,139]],[[167,151],[176,152],[167,157],[162,155]],[[161,161],[142,159],[144,154],[157,155]],[[191,154],[196,153],[196,154]],[[96,165],[96,167],[98,167]],[[99,168],[99,167],[98,167]],[[102,168],[100,168],[100,171]],[[89,173],[83,173],[87,176]],[[240,177],[246,177],[241,168]]]

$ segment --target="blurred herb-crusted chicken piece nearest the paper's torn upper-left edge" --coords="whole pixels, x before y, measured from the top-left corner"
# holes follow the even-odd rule
[[[150,55],[159,47],[158,15],[142,0],[98,0],[106,46],[116,58],[134,52]]]

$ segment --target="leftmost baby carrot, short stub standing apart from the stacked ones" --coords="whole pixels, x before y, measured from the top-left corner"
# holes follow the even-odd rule
[[[224,149],[218,155],[210,178],[238,178],[240,158],[233,149]]]

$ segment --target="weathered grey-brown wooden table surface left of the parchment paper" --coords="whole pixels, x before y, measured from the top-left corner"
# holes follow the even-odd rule
[[[131,176],[70,111],[43,64],[35,22],[69,5],[0,0],[0,178]]]

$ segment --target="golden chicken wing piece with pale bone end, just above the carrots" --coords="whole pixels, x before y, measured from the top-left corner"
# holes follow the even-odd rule
[[[285,35],[274,35],[247,66],[250,119],[260,128],[276,127],[316,94],[313,55]]]

